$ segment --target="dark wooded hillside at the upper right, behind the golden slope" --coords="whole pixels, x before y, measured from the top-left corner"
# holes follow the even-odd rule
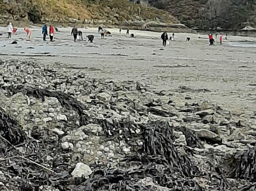
[[[241,29],[256,26],[255,0],[145,0],[198,29]]]

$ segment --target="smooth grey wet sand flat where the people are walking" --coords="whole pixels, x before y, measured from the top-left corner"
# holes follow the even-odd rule
[[[215,46],[210,47],[207,35],[198,39],[197,34],[175,33],[175,41],[162,47],[157,32],[130,30],[136,36],[130,38],[125,30],[119,35],[118,29],[109,29],[113,36],[100,39],[96,28],[80,29],[86,41],[74,43],[71,28],[59,30],[54,42],[49,42],[49,36],[43,42],[41,29],[34,28],[29,42],[20,28],[11,40],[6,38],[5,28],[0,28],[0,57],[35,60],[51,67],[60,62],[63,70],[80,70],[93,78],[139,81],[151,90],[166,90],[169,98],[181,105],[210,101],[235,114],[252,115],[255,111],[255,49],[229,44],[255,38],[229,36],[222,46],[215,39]],[[89,34],[95,35],[93,43],[86,39]],[[14,40],[18,44],[11,44]],[[178,93],[179,86],[193,91]]]

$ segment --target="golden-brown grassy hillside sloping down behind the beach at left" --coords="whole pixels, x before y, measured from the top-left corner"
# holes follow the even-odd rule
[[[128,0],[0,0],[0,24],[72,23],[133,25],[147,21],[180,23],[170,13]]]

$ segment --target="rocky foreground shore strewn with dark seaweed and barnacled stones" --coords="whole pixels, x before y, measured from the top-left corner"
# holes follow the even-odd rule
[[[38,62],[0,60],[1,190],[256,189],[254,115]]]

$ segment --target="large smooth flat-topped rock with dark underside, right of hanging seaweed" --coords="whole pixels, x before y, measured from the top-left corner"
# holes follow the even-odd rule
[[[194,131],[195,131],[195,133],[197,133],[199,138],[202,139],[203,141],[207,141],[212,144],[216,144],[216,143],[221,144],[222,143],[221,137],[219,137],[219,135],[217,135],[216,133],[213,133],[206,129],[199,129],[199,130],[194,129]]]

